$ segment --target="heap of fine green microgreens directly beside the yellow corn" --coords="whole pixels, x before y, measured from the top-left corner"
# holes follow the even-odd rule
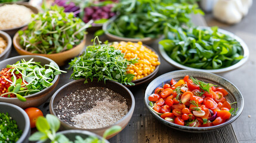
[[[113,80],[115,82],[134,85],[132,79],[134,74],[127,74],[127,65],[137,63],[137,60],[128,61],[124,58],[121,50],[115,49],[105,42],[103,45],[98,41],[96,45],[87,46],[86,52],[81,56],[75,57],[69,65],[69,69],[73,69],[72,79],[93,79]],[[87,83],[88,81],[85,80]]]

